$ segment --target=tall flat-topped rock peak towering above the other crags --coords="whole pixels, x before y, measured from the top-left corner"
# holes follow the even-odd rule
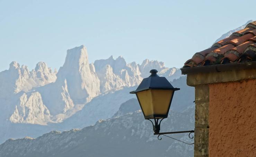
[[[85,46],[75,47],[67,51],[64,65],[57,74],[57,85],[67,81],[71,99],[86,102],[100,94],[99,79],[89,65]]]

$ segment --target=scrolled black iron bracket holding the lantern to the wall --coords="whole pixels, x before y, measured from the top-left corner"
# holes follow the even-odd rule
[[[166,136],[166,137],[175,139],[175,140],[177,140],[177,141],[180,141],[180,142],[182,142],[182,143],[185,143],[184,141],[181,141],[181,140],[178,140],[178,139],[176,139],[176,138],[173,138],[173,137],[170,137],[170,136],[165,135],[165,134],[180,134],[180,133],[189,133],[189,134],[188,134],[188,137],[189,137],[190,139],[193,139],[193,138],[194,138],[194,136],[191,135],[191,133],[194,133],[194,132],[195,132],[194,130],[189,130],[189,131],[173,131],[173,132],[159,133],[159,131],[160,131],[160,124],[161,124],[161,121],[162,121],[163,119],[165,119],[165,118],[162,118],[162,119],[160,120],[159,124],[158,124],[159,119],[154,118],[155,125],[153,124],[153,122],[152,122],[150,119],[148,119],[148,120],[151,121],[151,123],[152,123],[152,125],[153,125],[154,135],[158,135],[158,136],[157,136],[157,139],[161,140],[162,138],[159,138],[159,136],[160,136],[160,135],[163,135],[163,136]],[[185,143],[185,144],[193,145],[194,143],[191,143],[191,144]]]

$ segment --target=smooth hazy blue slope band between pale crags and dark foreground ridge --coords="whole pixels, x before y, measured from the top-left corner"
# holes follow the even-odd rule
[[[94,125],[99,119],[107,119],[113,116],[123,102],[134,98],[134,95],[129,94],[129,91],[135,88],[136,87],[126,87],[121,90],[100,95],[89,102],[87,104],[88,107],[83,108],[83,110],[78,111],[76,114],[60,123],[48,123],[47,125],[14,124],[9,120],[5,120],[0,123],[0,143],[3,143],[9,138],[23,138],[25,136],[35,138],[51,130],[63,131]]]

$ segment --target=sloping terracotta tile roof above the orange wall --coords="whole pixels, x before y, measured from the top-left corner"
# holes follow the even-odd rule
[[[185,62],[184,68],[255,60],[256,21],[253,21],[245,29],[214,43],[211,48],[195,53]]]

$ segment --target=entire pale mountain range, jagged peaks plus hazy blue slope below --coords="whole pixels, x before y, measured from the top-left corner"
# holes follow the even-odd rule
[[[179,69],[147,59],[142,65],[127,64],[121,56],[89,63],[83,45],[67,50],[58,73],[44,62],[29,71],[14,61],[0,72],[0,142],[24,135],[36,137],[53,129],[82,128],[111,118],[123,102],[134,98],[129,91],[154,68],[170,81],[181,76]]]

